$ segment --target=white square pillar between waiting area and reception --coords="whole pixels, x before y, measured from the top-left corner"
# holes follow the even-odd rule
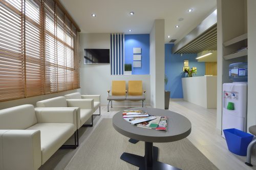
[[[150,33],[151,105],[164,109],[164,19],[156,19]]]

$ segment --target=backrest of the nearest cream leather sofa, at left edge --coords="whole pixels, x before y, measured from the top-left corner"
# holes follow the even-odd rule
[[[37,124],[33,105],[20,105],[0,110],[0,129],[23,130]]]

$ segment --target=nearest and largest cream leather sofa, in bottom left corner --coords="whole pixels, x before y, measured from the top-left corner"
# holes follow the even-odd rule
[[[0,169],[38,169],[75,134],[76,119],[74,108],[0,110]]]

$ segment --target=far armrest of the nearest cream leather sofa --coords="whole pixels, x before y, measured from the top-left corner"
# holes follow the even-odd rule
[[[77,129],[77,108],[35,108],[35,114],[38,123],[70,123]]]

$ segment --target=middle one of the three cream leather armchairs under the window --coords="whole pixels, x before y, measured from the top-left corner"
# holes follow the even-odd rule
[[[65,96],[59,96],[56,98],[51,98],[43,101],[36,102],[36,107],[74,107],[77,110],[77,129],[82,126],[92,127],[93,126],[93,108],[94,101],[93,99],[67,99]],[[92,118],[91,125],[84,125]]]

